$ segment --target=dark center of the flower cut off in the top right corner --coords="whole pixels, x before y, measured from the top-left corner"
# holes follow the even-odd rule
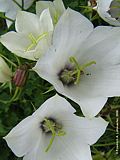
[[[120,22],[120,0],[113,0],[109,8],[108,13],[111,17]]]

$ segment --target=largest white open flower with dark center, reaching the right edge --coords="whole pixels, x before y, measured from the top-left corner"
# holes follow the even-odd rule
[[[95,116],[108,97],[120,95],[120,28],[92,23],[67,9],[57,23],[53,45],[33,68],[64,96]]]

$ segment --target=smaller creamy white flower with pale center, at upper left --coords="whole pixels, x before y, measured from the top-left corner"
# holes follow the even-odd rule
[[[49,9],[40,17],[20,11],[15,21],[16,32],[10,31],[1,36],[0,42],[17,56],[37,60],[51,45],[53,23]]]

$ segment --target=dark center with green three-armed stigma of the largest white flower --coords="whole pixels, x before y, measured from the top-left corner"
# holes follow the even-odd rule
[[[59,80],[62,81],[63,85],[67,86],[79,84],[80,77],[84,74],[84,69],[92,64],[96,64],[95,61],[91,61],[80,65],[75,57],[70,57],[70,63],[71,65],[66,65],[58,74]]]

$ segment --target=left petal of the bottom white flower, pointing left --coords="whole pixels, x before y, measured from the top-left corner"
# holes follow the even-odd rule
[[[34,149],[39,137],[39,120],[29,116],[14,127],[4,139],[14,154],[22,157]]]

